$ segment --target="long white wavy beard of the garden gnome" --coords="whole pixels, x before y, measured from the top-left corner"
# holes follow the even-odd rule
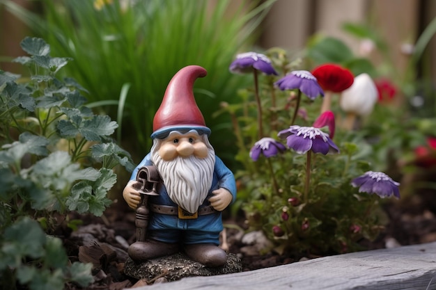
[[[194,214],[212,186],[215,151],[208,147],[208,156],[204,159],[192,155],[187,158],[177,156],[172,161],[162,160],[156,148],[152,148],[151,154],[169,198],[182,209]]]

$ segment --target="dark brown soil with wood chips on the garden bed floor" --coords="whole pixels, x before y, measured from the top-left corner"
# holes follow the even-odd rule
[[[389,222],[375,241],[362,243],[368,250],[391,248],[436,241],[436,199],[435,191],[413,195],[400,201],[383,203],[383,210]],[[124,204],[115,203],[105,211],[104,216],[79,216],[70,218],[83,221],[79,229],[64,229],[65,247],[71,261],[92,262],[95,282],[86,289],[118,290],[151,284],[154,281],[138,281],[123,274],[127,259],[127,246],[136,239],[134,212]],[[242,225],[242,219],[240,224]],[[227,220],[228,223],[235,223]],[[238,222],[237,222],[238,223]],[[236,229],[226,231],[228,251],[237,254],[242,261],[243,271],[279,266],[298,261],[300,257],[286,257],[270,252],[259,255],[247,251]],[[246,248],[244,248],[246,247]],[[304,257],[310,259],[312,257]],[[158,277],[157,277],[158,278]],[[157,281],[161,281],[161,279]],[[68,289],[81,289],[69,284]]]

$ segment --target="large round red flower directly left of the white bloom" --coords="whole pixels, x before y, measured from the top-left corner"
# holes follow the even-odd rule
[[[320,65],[312,71],[313,76],[316,77],[322,90],[329,90],[332,92],[342,92],[350,88],[355,77],[350,70],[347,70],[341,65],[328,63]]]

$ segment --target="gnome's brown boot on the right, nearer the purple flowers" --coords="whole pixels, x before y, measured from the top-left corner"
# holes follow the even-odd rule
[[[185,245],[185,252],[189,258],[198,261],[206,267],[219,267],[226,264],[227,254],[217,245],[198,243]]]

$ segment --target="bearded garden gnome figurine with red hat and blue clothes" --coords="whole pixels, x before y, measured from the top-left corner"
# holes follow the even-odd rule
[[[150,153],[124,188],[123,198],[137,209],[138,171],[154,166],[159,173],[157,194],[147,197],[146,239],[132,243],[128,250],[134,261],[182,250],[204,266],[226,263],[226,252],[218,246],[221,211],[235,200],[236,184],[231,170],[215,156],[208,140],[210,129],[192,92],[196,79],[206,74],[203,67],[190,65],[173,76],[153,119]]]

